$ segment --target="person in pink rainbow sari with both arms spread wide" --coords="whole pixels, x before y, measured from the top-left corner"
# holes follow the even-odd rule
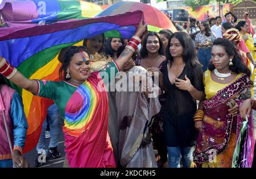
[[[130,59],[146,28],[142,22],[119,58],[101,72],[90,73],[90,56],[83,46],[65,53],[60,77],[63,81],[29,80],[0,57],[0,73],[32,94],[53,99],[64,119],[65,152],[71,167],[115,167],[108,134],[108,94],[105,84]],[[111,76],[110,74],[114,75]],[[104,82],[103,79],[104,78]]]

